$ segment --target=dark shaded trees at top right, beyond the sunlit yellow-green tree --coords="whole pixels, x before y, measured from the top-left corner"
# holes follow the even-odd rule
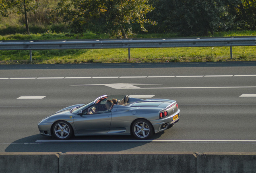
[[[158,25],[149,32],[180,32],[183,36],[217,31],[255,30],[256,0],[151,0],[148,17]]]

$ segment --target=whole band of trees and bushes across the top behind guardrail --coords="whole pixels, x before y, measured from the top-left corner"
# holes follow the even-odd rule
[[[130,38],[147,30],[149,36],[256,30],[256,0],[0,0],[0,34],[27,32],[25,11],[31,33]]]

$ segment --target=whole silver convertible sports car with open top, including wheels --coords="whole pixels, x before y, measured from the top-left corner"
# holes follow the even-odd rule
[[[108,108],[107,102],[117,102]],[[133,135],[148,139],[180,120],[176,101],[103,95],[87,104],[66,107],[38,123],[41,135],[66,140],[85,135]]]

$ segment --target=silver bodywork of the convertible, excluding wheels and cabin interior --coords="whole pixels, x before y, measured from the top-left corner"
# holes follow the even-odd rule
[[[113,98],[124,98],[112,96]],[[130,135],[131,126],[137,119],[149,121],[155,133],[159,133],[180,120],[180,109],[176,102],[167,99],[137,99],[129,98],[127,103],[122,99],[122,105],[114,105],[109,112],[87,115],[85,112],[93,105],[100,105],[111,96],[101,96],[88,104],[78,104],[66,107],[54,115],[46,117],[38,123],[41,135],[52,136],[52,125],[57,121],[66,121],[74,130],[75,136],[85,135]],[[127,96],[125,96],[127,97]],[[102,105],[100,105],[102,106]],[[83,111],[81,115],[78,111]],[[160,118],[159,113],[167,111],[167,116]],[[178,118],[173,120],[173,117]]]

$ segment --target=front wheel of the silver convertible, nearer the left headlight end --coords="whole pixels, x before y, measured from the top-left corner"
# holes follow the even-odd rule
[[[66,121],[57,121],[53,126],[53,135],[57,139],[69,139],[73,135],[73,129]]]

